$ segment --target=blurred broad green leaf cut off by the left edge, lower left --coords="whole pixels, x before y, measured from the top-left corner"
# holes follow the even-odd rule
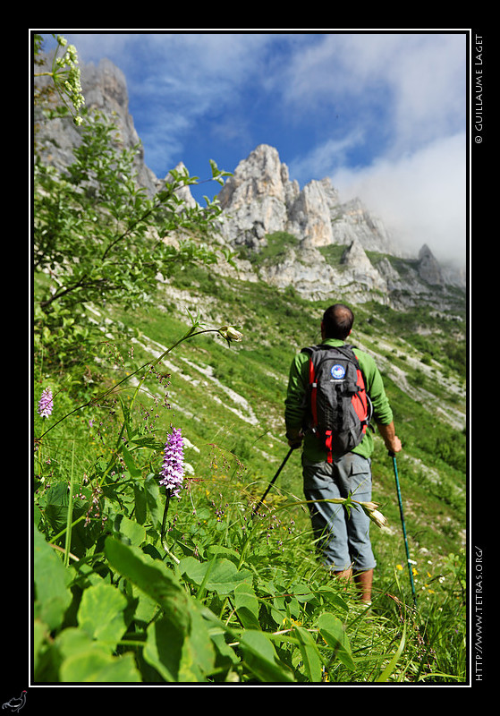
[[[72,570],[64,564],[44,537],[33,530],[33,574],[35,579],[35,617],[50,630],[61,626],[71,604],[72,592],[66,586]]]

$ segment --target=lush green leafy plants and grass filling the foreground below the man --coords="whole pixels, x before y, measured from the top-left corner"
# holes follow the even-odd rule
[[[166,400],[164,366],[120,370],[82,406],[53,384],[54,413],[36,415],[35,682],[465,678],[459,558],[428,577],[436,590],[422,585],[416,610],[386,560],[367,610],[319,567],[286,481],[253,515],[266,482],[223,432],[185,444],[171,498],[159,472],[182,414]]]

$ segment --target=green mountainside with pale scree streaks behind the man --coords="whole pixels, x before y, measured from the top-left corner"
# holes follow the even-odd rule
[[[190,268],[162,287],[154,309],[120,316],[139,331],[138,362],[185,333],[188,310],[199,311],[208,328],[241,327],[241,344],[228,347],[215,335],[195,337],[165,362],[171,374],[172,410],[167,415],[194,446],[186,457],[197,476],[203,477],[207,461],[220,447],[242,462],[239,488],[256,497],[266,489],[287,452],[283,407],[289,364],[301,346],[318,341],[325,308],[293,292]],[[403,440],[398,472],[411,557],[418,568],[427,561],[436,566],[465,540],[463,323],[433,318],[424,308],[403,314],[377,304],[358,307],[356,315],[352,343],[376,356]],[[389,527],[374,529],[372,536],[380,571],[391,571],[394,564],[404,563],[404,546],[393,464],[380,439],[376,443],[373,499],[381,503]],[[276,488],[269,500],[283,499],[280,493],[301,499],[298,453]],[[305,510],[296,507],[294,513],[297,524],[307,529]]]

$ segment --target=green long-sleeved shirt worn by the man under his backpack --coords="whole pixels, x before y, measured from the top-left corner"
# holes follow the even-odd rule
[[[345,343],[336,338],[327,338],[322,341],[322,345],[345,345]],[[373,405],[372,424],[388,425],[393,422],[393,411],[389,405],[384,382],[376,362],[371,355],[360,351],[358,348],[354,348],[354,353],[360,362],[360,369],[364,375],[367,392]],[[284,422],[287,432],[301,429],[307,413],[304,398],[309,381],[308,363],[309,355],[299,353],[293,358],[290,367],[288,390],[284,401]],[[373,452],[373,432],[370,429],[366,431],[360,445],[355,447],[352,452],[364,457],[371,456]],[[303,453],[312,462],[326,460],[326,450],[321,448],[318,438],[310,432],[306,433],[304,437]]]

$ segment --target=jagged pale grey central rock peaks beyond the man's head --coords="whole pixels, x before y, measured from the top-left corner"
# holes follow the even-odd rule
[[[273,260],[259,264],[258,276],[270,284],[318,300],[342,294],[354,303],[408,306],[424,299],[443,305],[449,282],[427,245],[416,259],[404,259],[361,200],[342,203],[328,178],[301,189],[274,147],[259,145],[243,159],[219,200],[225,217],[220,232],[234,249],[258,253],[271,234],[290,234]],[[370,260],[367,251],[377,256]]]

